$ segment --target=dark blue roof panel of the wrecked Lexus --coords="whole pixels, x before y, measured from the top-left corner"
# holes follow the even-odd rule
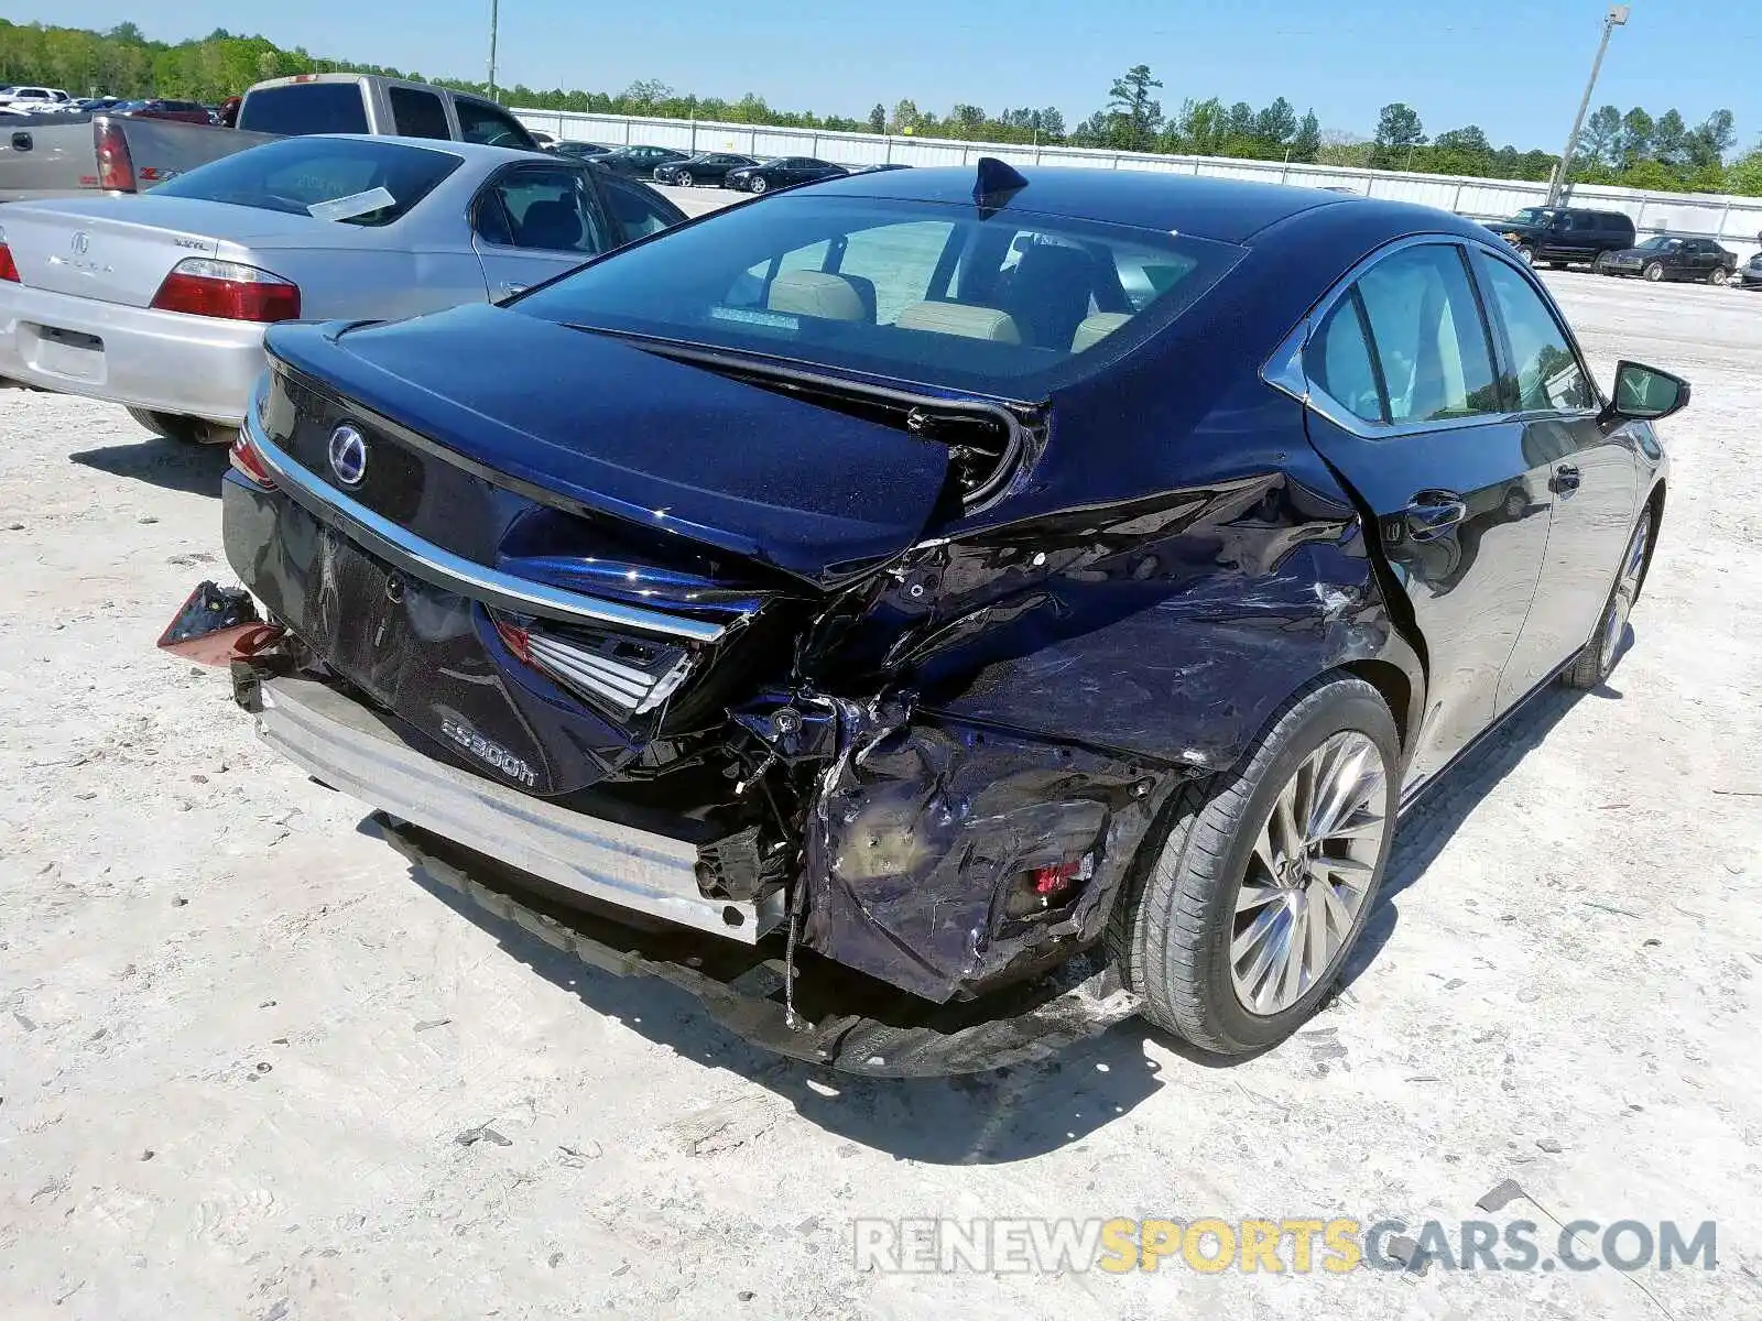
[[[1475,225],[1448,211],[1373,197],[1344,197],[1325,188],[1283,183],[1251,183],[1228,178],[1165,174],[1149,169],[1082,169],[1050,166],[1015,167],[1025,188],[1006,194],[999,211],[1055,215],[1071,220],[1101,220],[1138,229],[1175,231],[1225,243],[1246,243],[1255,234],[1299,217],[1320,218],[1323,211],[1350,208],[1353,229],[1385,222],[1388,234],[1417,231],[1457,232],[1485,238]],[[811,185],[816,196],[874,197],[892,201],[973,201],[976,171],[971,167],[890,169],[848,174]],[[1330,217],[1332,218],[1332,217]]]

